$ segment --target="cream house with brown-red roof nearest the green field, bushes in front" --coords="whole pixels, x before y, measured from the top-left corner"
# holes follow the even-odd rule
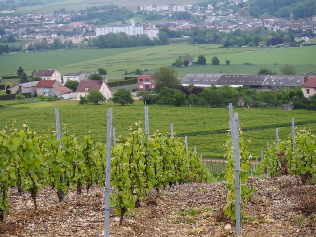
[[[76,90],[77,100],[80,100],[80,96],[88,95],[91,90],[101,92],[106,99],[111,97],[111,88],[105,83],[105,81],[83,80],[79,82]]]

